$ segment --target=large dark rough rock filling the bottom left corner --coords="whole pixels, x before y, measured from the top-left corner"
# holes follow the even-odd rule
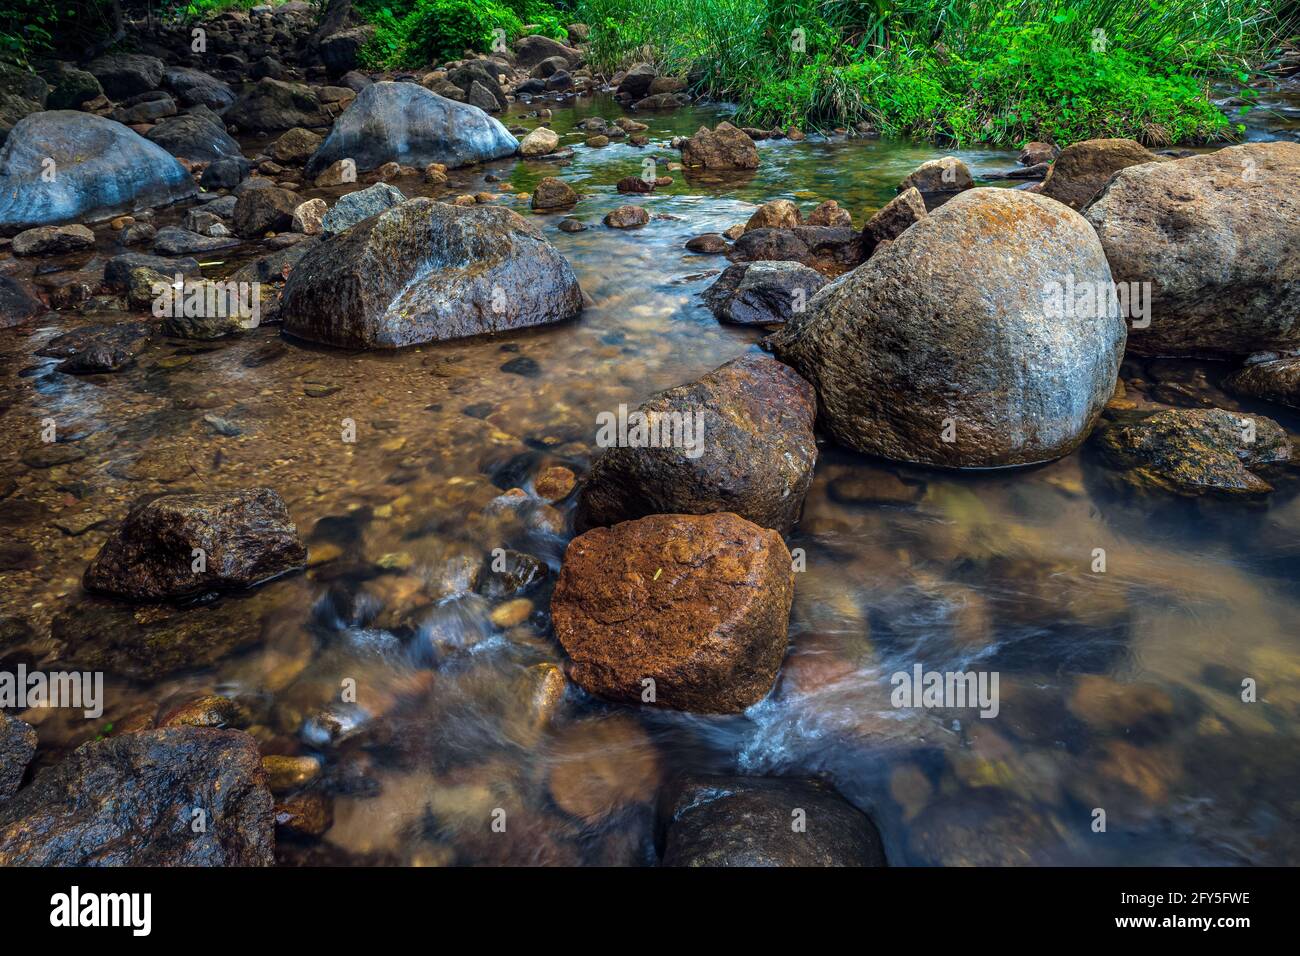
[[[0,865],[269,866],[273,808],[242,731],[124,734],[83,744],[0,804]]]

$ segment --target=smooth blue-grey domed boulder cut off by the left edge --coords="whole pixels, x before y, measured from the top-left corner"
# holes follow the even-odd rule
[[[44,176],[48,160],[53,177]],[[34,113],[14,126],[0,150],[4,234],[165,206],[196,191],[166,150],[91,113]]]

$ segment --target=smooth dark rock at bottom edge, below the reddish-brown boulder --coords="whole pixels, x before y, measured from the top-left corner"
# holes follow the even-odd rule
[[[864,813],[816,780],[692,777],[664,806],[663,866],[885,866]]]

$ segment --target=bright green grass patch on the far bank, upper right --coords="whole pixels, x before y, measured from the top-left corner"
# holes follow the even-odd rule
[[[1209,85],[1295,26],[1261,0],[580,0],[576,16],[598,68],[651,60],[742,122],[962,146],[1231,135]]]

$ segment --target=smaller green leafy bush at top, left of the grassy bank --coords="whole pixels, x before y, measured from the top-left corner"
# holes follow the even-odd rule
[[[560,14],[541,0],[368,0],[359,12],[376,26],[361,52],[376,69],[419,69],[459,59],[467,49],[488,52],[497,30],[512,40],[525,23],[556,39],[567,36]]]

